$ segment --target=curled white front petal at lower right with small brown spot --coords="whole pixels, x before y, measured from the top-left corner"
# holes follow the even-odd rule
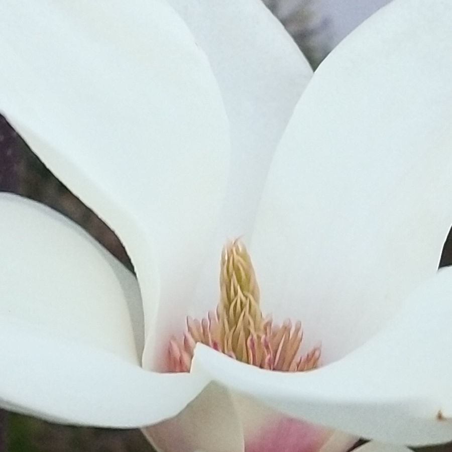
[[[278,373],[197,346],[193,368],[289,415],[394,444],[452,440],[452,267],[418,288],[364,346]]]

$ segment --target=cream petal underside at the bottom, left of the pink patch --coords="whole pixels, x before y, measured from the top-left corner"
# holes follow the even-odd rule
[[[165,452],[243,452],[240,419],[229,391],[208,385],[181,413],[143,430]]]

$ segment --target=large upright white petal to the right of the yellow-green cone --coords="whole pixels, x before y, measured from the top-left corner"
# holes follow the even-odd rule
[[[263,309],[330,362],[435,272],[452,221],[452,3],[395,0],[304,91],[272,163],[251,255]]]

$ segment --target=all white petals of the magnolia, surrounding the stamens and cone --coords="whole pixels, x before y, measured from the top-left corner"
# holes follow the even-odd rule
[[[4,195],[0,404],[146,427],[171,452],[451,440],[452,274],[434,276],[452,220],[450,23],[449,0],[396,0],[308,84],[259,0],[3,0],[0,109],[118,233],[140,288],[73,223]],[[262,310],[303,321],[320,369],[198,345],[190,372],[164,372],[238,236]]]

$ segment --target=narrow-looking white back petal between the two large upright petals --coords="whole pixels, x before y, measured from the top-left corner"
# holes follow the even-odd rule
[[[190,312],[199,316],[216,302],[224,242],[250,239],[273,153],[312,69],[261,0],[170,3],[207,54],[231,124],[228,194]]]

